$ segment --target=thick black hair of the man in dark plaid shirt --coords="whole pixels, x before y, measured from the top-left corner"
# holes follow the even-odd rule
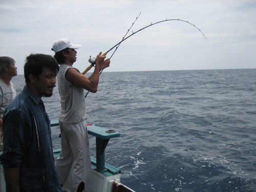
[[[51,55],[45,54],[30,54],[24,65],[24,76],[26,83],[30,82],[29,75],[33,74],[36,78],[42,73],[44,69],[49,69],[55,74],[59,72],[57,61]]]

